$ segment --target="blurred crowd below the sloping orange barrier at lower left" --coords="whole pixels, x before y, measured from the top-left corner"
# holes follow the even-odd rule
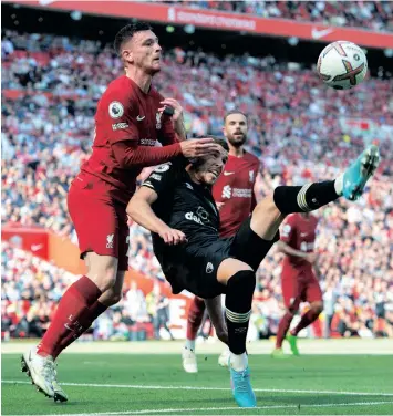
[[[77,278],[2,241],[2,337],[41,337],[63,292]],[[145,295],[132,281],[122,301],[100,316],[89,334],[97,340],[145,340],[147,336],[159,340],[162,330],[173,339],[168,304],[158,283]]]

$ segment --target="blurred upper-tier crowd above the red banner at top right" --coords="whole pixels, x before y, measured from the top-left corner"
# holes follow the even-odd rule
[[[165,1],[195,9],[247,13],[261,18],[290,19],[338,27],[393,31],[391,1]]]

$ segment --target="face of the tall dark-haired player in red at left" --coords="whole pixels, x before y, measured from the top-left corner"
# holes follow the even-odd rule
[[[151,30],[136,32],[127,44],[127,62],[149,75],[159,72],[162,48],[158,38]]]

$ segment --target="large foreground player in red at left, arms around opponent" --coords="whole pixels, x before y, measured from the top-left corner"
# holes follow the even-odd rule
[[[210,138],[184,141],[180,105],[164,100],[152,86],[161,70],[162,49],[147,23],[121,29],[114,48],[125,74],[108,85],[97,104],[93,153],[68,196],[87,273],[65,291],[38,349],[22,355],[22,371],[54,401],[68,399],[56,382],[54,360],[121,299],[128,268],[125,208],[135,191],[136,177],[146,166],[182,154],[206,156],[217,146]]]

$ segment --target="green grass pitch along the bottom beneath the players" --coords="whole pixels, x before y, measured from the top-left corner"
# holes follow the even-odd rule
[[[392,356],[303,355],[277,361],[251,355],[249,362],[258,409],[236,406],[229,373],[217,365],[217,355],[199,355],[199,373],[186,374],[176,354],[64,354],[59,381],[70,401],[55,404],[27,384],[20,355],[3,354],[1,410],[3,415],[393,414]]]

